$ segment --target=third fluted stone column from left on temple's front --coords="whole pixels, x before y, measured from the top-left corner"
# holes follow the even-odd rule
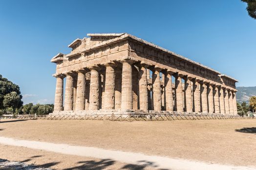
[[[85,110],[85,70],[77,71],[77,94],[75,110]]]

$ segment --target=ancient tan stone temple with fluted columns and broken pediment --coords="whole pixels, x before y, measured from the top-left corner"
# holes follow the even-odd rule
[[[51,59],[52,114],[237,115],[235,79],[130,34],[87,36]]]

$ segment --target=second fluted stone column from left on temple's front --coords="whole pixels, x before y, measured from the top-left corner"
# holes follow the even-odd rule
[[[74,93],[74,79],[73,73],[66,73],[66,87],[65,87],[65,100],[64,100],[64,110],[73,110],[73,93]]]

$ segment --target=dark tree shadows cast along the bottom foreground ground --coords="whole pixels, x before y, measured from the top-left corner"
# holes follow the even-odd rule
[[[33,170],[33,168],[49,168],[49,169],[53,169],[55,165],[60,164],[61,162],[49,162],[49,163],[45,163],[45,164],[30,164],[28,163],[29,161],[32,161],[34,158],[37,157],[41,157],[43,155],[35,155],[32,157],[29,157],[28,159],[19,161],[21,164],[26,164],[28,165],[28,169],[22,169],[22,170]],[[4,159],[0,159],[0,162],[4,162],[7,160]],[[77,162],[77,166],[75,167],[70,167],[70,168],[66,168],[64,170],[103,170],[103,169],[111,169],[111,166],[114,166],[114,164],[116,163],[116,161],[112,160],[112,159],[101,159],[99,161],[95,161],[95,160],[89,160],[89,161],[80,161]],[[33,168],[32,168],[32,167]],[[157,165],[155,165],[154,162],[149,162],[149,161],[138,161],[137,165],[134,164],[126,164],[126,165],[122,165],[121,167],[118,167],[117,169],[119,170],[145,170],[145,168],[155,168],[157,169]],[[17,165],[8,165],[8,167],[0,167],[0,170],[2,170],[1,168],[8,168],[8,169],[13,169],[16,170],[17,169]],[[19,167],[18,167],[19,168]],[[32,169],[29,169],[32,168]],[[161,169],[161,170],[167,170],[167,169]]]

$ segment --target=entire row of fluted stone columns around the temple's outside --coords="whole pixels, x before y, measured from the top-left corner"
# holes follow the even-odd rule
[[[54,111],[63,110],[98,110],[132,109],[133,98],[133,61],[123,60],[122,69],[115,68],[114,63],[107,63],[104,90],[100,91],[100,68],[90,69],[89,89],[86,91],[85,70],[77,71],[77,80],[73,73],[66,73],[66,87],[63,101],[63,76],[56,76],[56,93]],[[155,111],[203,112],[236,114],[235,91],[218,85],[209,84],[187,75],[181,75],[166,69],[152,67],[147,64],[138,66],[138,109]],[[149,68],[152,70],[152,83],[149,85]],[[162,72],[161,85],[160,72]],[[175,87],[172,89],[172,76]],[[184,91],[182,79],[185,80]],[[174,95],[172,91],[174,90]],[[164,92],[162,94],[162,92]],[[102,94],[102,98],[99,97]],[[88,96],[86,99],[86,95]],[[100,102],[100,99],[103,101]],[[87,101],[86,101],[87,100]],[[74,104],[75,103],[75,104]],[[163,104],[164,103],[164,104]],[[86,108],[86,104],[88,105]],[[164,106],[163,106],[164,105]]]

